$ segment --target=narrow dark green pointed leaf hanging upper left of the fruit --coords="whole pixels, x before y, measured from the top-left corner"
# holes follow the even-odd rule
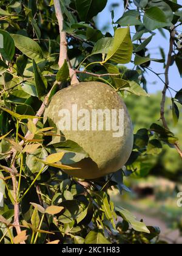
[[[36,65],[35,60],[33,60],[33,71],[35,76],[36,93],[38,94],[38,98],[41,99],[41,97],[45,95],[47,80],[45,79],[45,77],[42,76],[41,71],[38,65]]]

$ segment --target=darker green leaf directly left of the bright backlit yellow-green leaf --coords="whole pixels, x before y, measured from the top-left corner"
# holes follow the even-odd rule
[[[92,54],[107,54],[110,47],[112,46],[113,38],[104,37],[98,40],[93,47]]]

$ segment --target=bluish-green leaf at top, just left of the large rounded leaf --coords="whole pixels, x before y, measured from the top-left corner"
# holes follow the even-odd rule
[[[116,21],[116,23],[120,24],[122,27],[142,25],[139,18],[140,12],[137,12],[136,10],[129,10],[125,12],[120,20]]]

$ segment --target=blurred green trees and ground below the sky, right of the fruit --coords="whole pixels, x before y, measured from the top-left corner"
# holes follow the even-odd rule
[[[134,133],[141,128],[149,129],[160,119],[161,92],[150,94],[149,98],[130,95],[124,99],[132,118]],[[172,101],[166,99],[166,120],[170,129],[182,141],[182,120],[174,127]],[[180,109],[181,114],[181,109]],[[116,204],[131,210],[147,225],[159,226],[161,238],[168,243],[182,243],[182,207],[177,206],[177,194],[182,191],[182,162],[174,148],[164,145],[159,155],[144,157],[150,166],[146,177],[126,177],[124,184],[131,193],[117,191],[111,194]]]

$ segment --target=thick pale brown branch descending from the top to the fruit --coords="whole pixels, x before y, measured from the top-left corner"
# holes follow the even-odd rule
[[[59,68],[64,64],[64,61],[67,60],[67,38],[66,32],[62,31],[63,28],[63,15],[61,10],[61,5],[59,0],[54,0],[56,18],[58,20],[59,25],[59,34],[60,34],[60,51],[59,51]],[[76,77],[75,71],[70,67],[70,77],[72,79],[71,84],[78,84],[78,78]]]

